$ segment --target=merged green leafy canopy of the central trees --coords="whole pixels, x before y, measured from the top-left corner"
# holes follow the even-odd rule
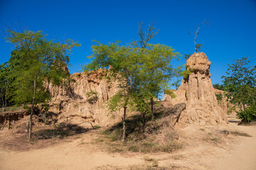
[[[156,96],[174,76],[176,69],[171,66],[171,61],[178,58],[178,53],[166,45],[148,44],[147,47],[142,50],[137,47],[119,46],[118,42],[108,45],[97,42],[97,45],[92,46],[93,60],[84,66],[84,69],[90,71],[105,68],[109,72],[109,79],[119,80],[120,91],[114,96],[118,99],[113,99],[114,104],[110,108],[116,101],[122,106],[134,106],[134,96],[139,94],[145,99]]]

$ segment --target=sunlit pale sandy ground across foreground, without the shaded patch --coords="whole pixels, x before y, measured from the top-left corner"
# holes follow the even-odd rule
[[[42,149],[21,152],[0,148],[0,169],[130,169],[131,166],[151,164],[148,158],[152,158],[159,166],[175,169],[255,170],[256,127],[230,123],[228,128],[252,137],[237,136],[234,142],[223,147],[187,146],[174,153],[110,153],[92,145],[95,134],[88,132]]]

